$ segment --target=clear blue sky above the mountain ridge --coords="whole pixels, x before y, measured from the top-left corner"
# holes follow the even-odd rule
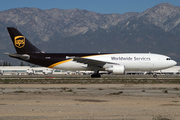
[[[159,3],[180,6],[180,0],[0,0],[0,11],[36,7],[40,9],[86,9],[102,14],[143,12]]]

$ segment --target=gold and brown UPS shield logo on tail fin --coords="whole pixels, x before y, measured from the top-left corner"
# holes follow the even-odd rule
[[[14,38],[14,45],[17,48],[22,48],[25,45],[25,37],[24,36],[16,36]]]

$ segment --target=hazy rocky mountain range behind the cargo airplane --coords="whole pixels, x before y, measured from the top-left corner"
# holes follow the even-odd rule
[[[45,52],[151,52],[180,64],[180,7],[158,4],[142,13],[99,14],[80,9],[15,8],[0,11],[0,62],[20,61],[6,27],[17,27]]]

